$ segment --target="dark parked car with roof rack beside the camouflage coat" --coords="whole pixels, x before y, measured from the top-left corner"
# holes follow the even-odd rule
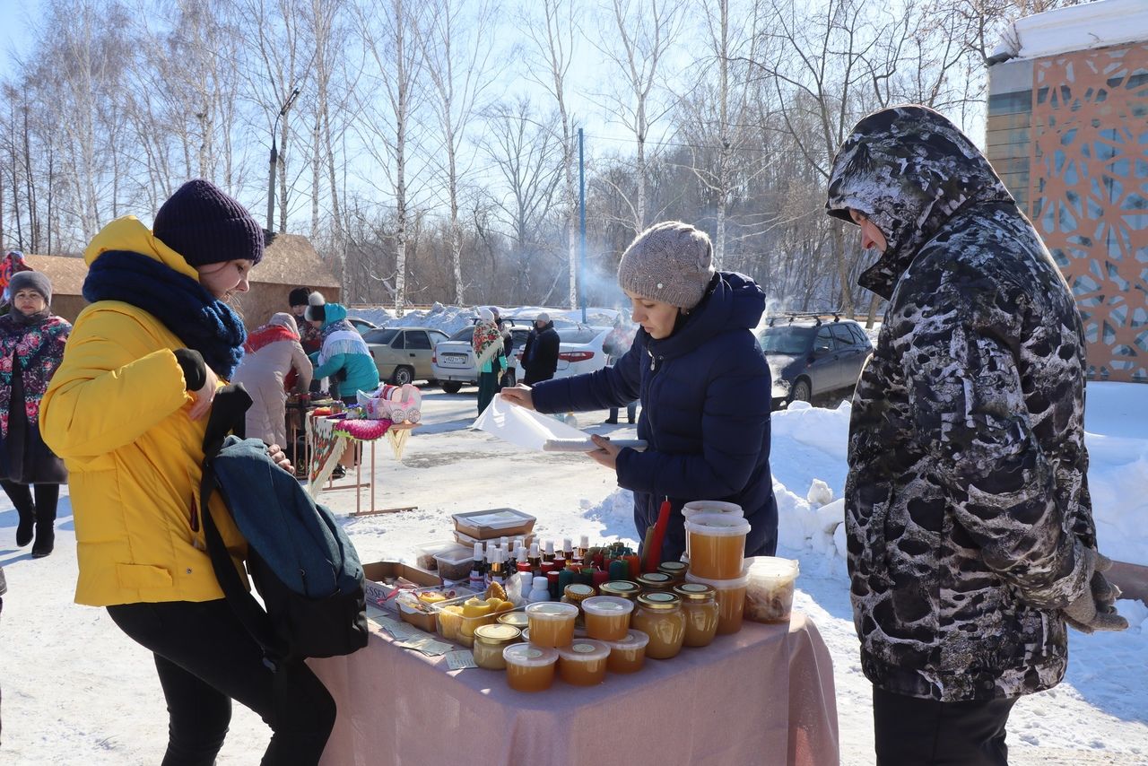
[[[769,362],[774,409],[852,392],[872,355],[869,336],[852,319],[790,314],[766,323],[758,343]]]

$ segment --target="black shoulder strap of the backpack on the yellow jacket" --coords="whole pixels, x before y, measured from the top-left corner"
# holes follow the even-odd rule
[[[208,555],[211,557],[211,568],[215,570],[216,580],[218,580],[227,603],[247,632],[263,648],[264,664],[272,670],[278,670],[286,658],[286,651],[276,639],[267,613],[259,606],[250,591],[243,587],[231,554],[227,551],[208,508],[208,501],[211,500],[211,494],[219,485],[215,473],[215,458],[219,455],[228,431],[236,431],[236,435],[242,436],[247,408],[250,405],[251,397],[241,384],[220,388],[216,394],[211,404],[207,433],[203,436],[200,517],[203,519],[203,533],[208,542]],[[224,500],[226,501],[226,497]],[[224,504],[226,505],[226,502]],[[231,509],[228,508],[227,511],[231,512]]]

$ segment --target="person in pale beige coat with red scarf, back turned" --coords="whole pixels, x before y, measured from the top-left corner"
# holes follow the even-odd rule
[[[262,439],[269,444],[287,443],[287,390],[284,381],[295,370],[295,390],[305,392],[311,385],[311,361],[300,345],[295,318],[289,314],[272,315],[243,343],[243,358],[232,382],[241,382],[251,395],[247,411],[248,439]]]

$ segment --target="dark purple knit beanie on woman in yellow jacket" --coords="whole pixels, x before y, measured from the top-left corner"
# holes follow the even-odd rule
[[[242,204],[202,178],[187,181],[163,203],[152,232],[192,266],[263,260],[263,227]]]

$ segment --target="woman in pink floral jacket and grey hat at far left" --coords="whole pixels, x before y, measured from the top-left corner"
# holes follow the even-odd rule
[[[40,271],[20,271],[8,284],[10,310],[0,317],[0,486],[16,506],[16,544],[32,542],[41,558],[55,548],[64,463],[40,436],[40,399],[64,356],[71,332],[52,314],[52,283]],[[33,496],[34,494],[34,496]]]

